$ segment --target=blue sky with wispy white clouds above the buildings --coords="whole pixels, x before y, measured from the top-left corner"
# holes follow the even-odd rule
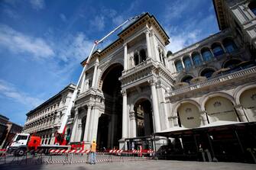
[[[219,31],[212,0],[1,0],[0,114],[24,124],[28,111],[76,83],[94,40],[145,11],[172,52]]]

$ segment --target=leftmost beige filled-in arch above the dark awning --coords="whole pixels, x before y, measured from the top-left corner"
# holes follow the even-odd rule
[[[195,104],[184,103],[178,107],[178,114],[182,127],[194,128],[203,125],[200,119],[199,109]]]

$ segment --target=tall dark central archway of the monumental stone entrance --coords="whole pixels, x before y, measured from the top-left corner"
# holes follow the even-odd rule
[[[122,75],[123,69],[121,64],[113,64],[102,75],[105,111],[98,123],[99,149],[118,146],[118,140],[122,138],[122,88],[118,78]]]

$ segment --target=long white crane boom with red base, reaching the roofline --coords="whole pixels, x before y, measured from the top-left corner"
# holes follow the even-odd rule
[[[142,14],[138,15],[138,16],[135,16],[135,17],[132,17],[132,18],[128,18],[127,21],[123,22],[122,24],[118,25],[118,27],[115,27],[114,30],[110,31],[109,34],[107,34],[105,37],[103,37],[101,40],[96,40],[94,43],[93,43],[93,46],[92,46],[92,50],[90,51],[89,53],[89,56],[88,56],[88,59],[86,60],[86,64],[85,66],[83,67],[83,71],[81,72],[80,76],[79,76],[79,79],[78,79],[78,82],[76,84],[76,88],[75,90],[73,91],[73,95],[70,99],[70,103],[68,104],[67,108],[66,108],[66,113],[64,114],[63,116],[63,120],[61,122],[61,125],[60,125],[60,129],[57,131],[56,133],[56,136],[55,136],[55,143],[59,143],[60,145],[66,145],[66,140],[64,139],[64,134],[65,134],[65,130],[66,130],[66,123],[67,123],[67,120],[70,116],[70,113],[71,113],[71,109],[73,107],[73,104],[75,102],[75,99],[76,99],[76,95],[79,91],[79,85],[80,85],[80,82],[81,82],[81,79],[83,77],[83,74],[86,74],[85,71],[86,71],[86,66],[89,64],[89,61],[92,57],[92,53],[93,53],[93,50],[95,49],[95,47],[99,44],[99,43],[102,43],[103,40],[105,40],[105,38],[109,37],[111,34],[113,34],[116,30],[118,30],[120,27],[122,27],[123,25],[125,25],[126,23],[128,23],[128,21],[131,21],[131,20],[134,20],[134,19],[137,19],[137,18],[140,18]],[[86,76],[86,75],[84,75]]]

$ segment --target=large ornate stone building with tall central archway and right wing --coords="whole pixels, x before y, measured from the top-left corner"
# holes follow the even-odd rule
[[[153,133],[221,121],[254,122],[255,2],[213,0],[213,5],[219,33],[177,53],[167,52],[169,37],[148,13],[108,47],[96,50],[70,117],[70,143],[84,141],[89,146],[96,139],[99,149],[131,149],[131,141],[140,139],[137,144],[149,148]],[[81,64],[85,66],[86,59]],[[39,108],[32,112],[37,110],[40,114]],[[28,133],[39,128],[32,123],[41,124],[32,112]],[[162,144],[160,138],[157,147]]]

